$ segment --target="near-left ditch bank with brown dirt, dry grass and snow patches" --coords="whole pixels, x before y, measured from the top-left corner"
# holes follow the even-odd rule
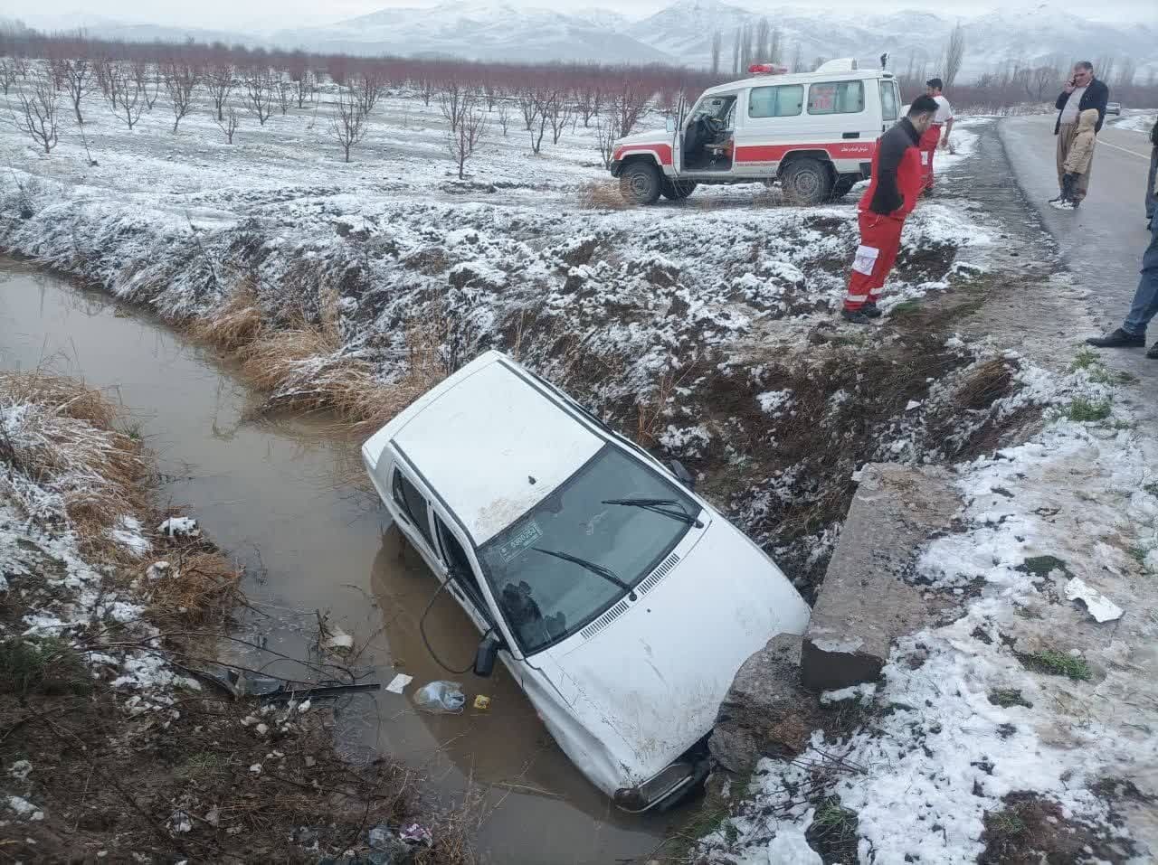
[[[338,756],[323,701],[198,674],[244,602],[240,574],[154,510],[151,456],[100,392],[0,375],[0,858],[316,862],[417,821],[432,841],[413,860],[471,860],[420,777]],[[315,667],[353,674],[342,656]]]

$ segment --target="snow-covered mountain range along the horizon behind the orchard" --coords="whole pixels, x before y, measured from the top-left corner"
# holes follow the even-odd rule
[[[420,1],[420,0],[418,0]],[[543,2],[543,0],[537,0]],[[1026,0],[1032,2],[1033,0]],[[669,62],[708,67],[713,34],[721,39],[721,72],[732,68],[735,35],[745,24],[767,17],[778,29],[780,59],[799,52],[801,66],[816,58],[857,57],[875,64],[885,51],[893,67],[938,65],[950,31],[959,19],[928,12],[857,15],[811,7],[740,6],[725,0],[675,0],[644,19],[600,7],[571,12],[523,7],[518,0],[444,0],[432,8],[384,8],[336,23],[267,32],[221,32],[190,28],[127,24],[90,14],[32,20],[47,30],[85,27],[93,36],[179,42],[186,36],[229,44],[306,49],[353,54],[447,56],[468,59],[543,62]],[[65,21],[67,19],[67,23]],[[1006,61],[1064,65],[1085,58],[1133,58],[1139,75],[1158,74],[1158,16],[1146,23],[1094,22],[1061,7],[1007,8],[960,19],[966,36],[961,81]]]

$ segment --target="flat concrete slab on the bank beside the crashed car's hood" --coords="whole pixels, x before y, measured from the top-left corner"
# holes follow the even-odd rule
[[[801,680],[828,690],[874,681],[893,641],[932,611],[911,574],[922,545],[950,527],[961,502],[940,468],[873,463],[860,472],[805,631]]]

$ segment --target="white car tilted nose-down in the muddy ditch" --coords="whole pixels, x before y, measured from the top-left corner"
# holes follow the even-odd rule
[[[808,606],[764,553],[576,401],[490,352],[362,445],[379,495],[579,769],[643,812],[706,772],[740,665]]]

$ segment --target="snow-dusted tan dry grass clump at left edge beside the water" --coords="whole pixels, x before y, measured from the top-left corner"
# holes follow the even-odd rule
[[[109,537],[123,517],[148,511],[152,465],[139,441],[115,428],[100,391],[43,370],[0,372],[2,489],[29,517],[65,523],[89,555],[119,557]]]

